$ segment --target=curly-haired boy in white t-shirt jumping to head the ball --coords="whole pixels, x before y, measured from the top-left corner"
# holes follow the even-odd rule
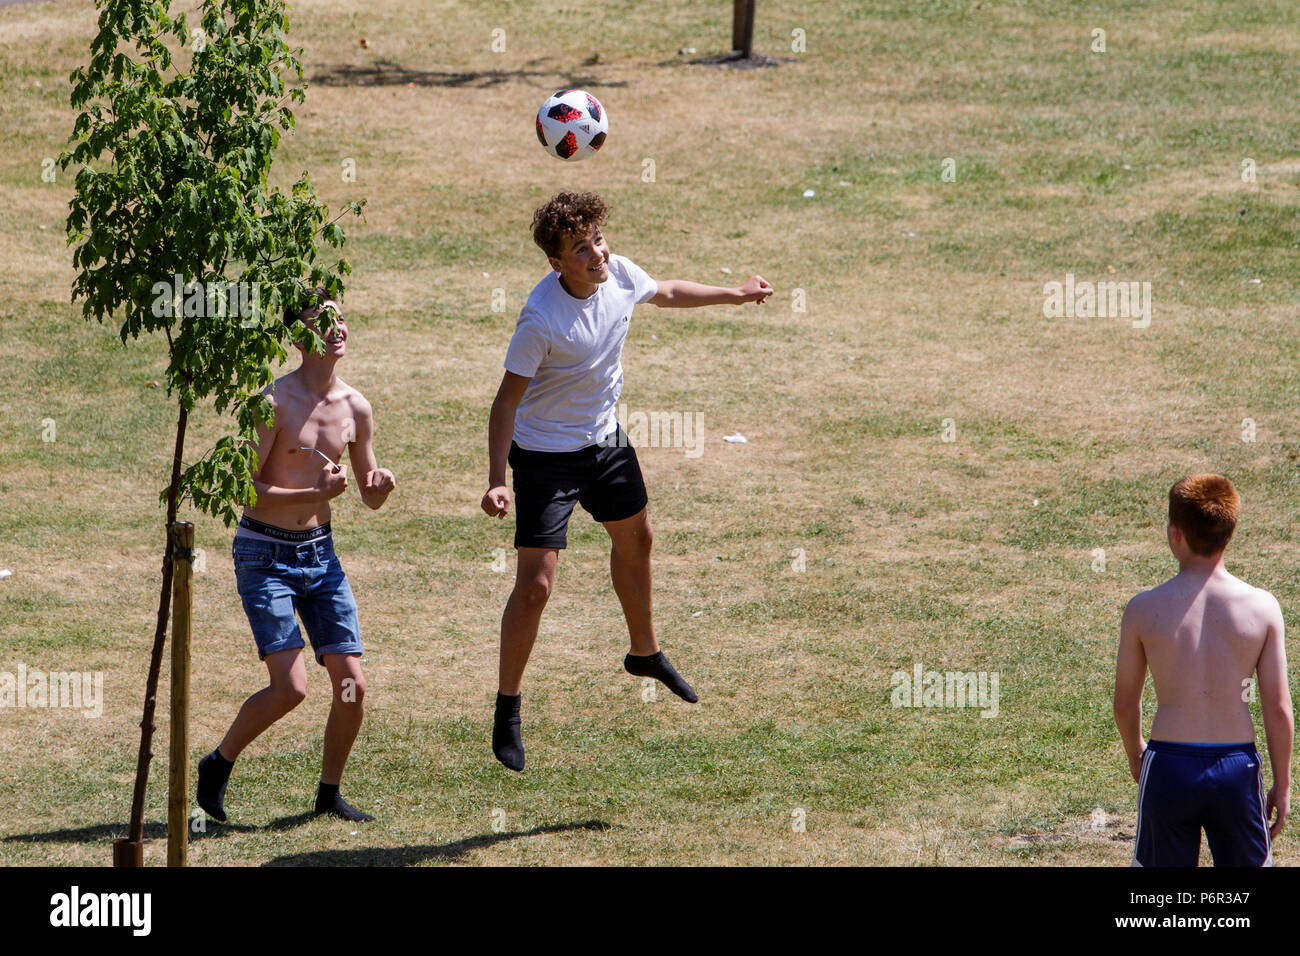
[[[533,215],[533,242],[551,272],[519,315],[506,373],[488,424],[488,492],[482,509],[504,518],[515,473],[515,589],[500,620],[500,670],[493,753],[524,769],[520,684],[555,584],[569,515],[581,505],[610,533],[610,576],[628,622],[623,667],[655,678],[685,701],[696,692],[659,649],[650,617],[650,519],[637,453],[619,428],[623,343],[632,310],[740,306],[772,294],[762,276],[740,287],[655,281],[610,252],[608,206],[594,193],[560,193]]]

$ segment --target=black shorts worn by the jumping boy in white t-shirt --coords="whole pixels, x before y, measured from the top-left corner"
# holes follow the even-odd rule
[[[636,449],[619,428],[577,451],[529,451],[510,444],[515,477],[515,548],[564,548],[573,505],[597,522],[621,522],[646,506]]]

